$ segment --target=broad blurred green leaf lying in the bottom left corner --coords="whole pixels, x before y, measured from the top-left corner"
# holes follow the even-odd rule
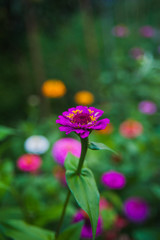
[[[20,220],[9,220],[4,224],[4,228],[4,234],[14,240],[54,240],[54,233]]]

